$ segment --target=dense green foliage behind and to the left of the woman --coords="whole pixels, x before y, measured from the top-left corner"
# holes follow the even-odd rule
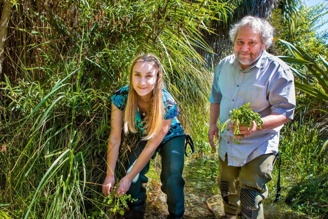
[[[199,30],[224,20],[226,10],[216,1],[17,4],[7,48],[19,46],[7,52],[19,58],[6,56],[0,85],[0,210],[13,218],[92,215],[103,201],[95,197],[105,177],[110,96],[127,83],[138,53],[162,60],[188,133],[193,121],[186,115],[205,114],[211,83],[195,52],[209,50]],[[192,107],[194,99],[199,105]]]

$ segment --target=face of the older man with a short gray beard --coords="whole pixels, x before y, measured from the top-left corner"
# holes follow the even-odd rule
[[[234,53],[240,62],[241,68],[246,69],[251,66],[265,50],[260,33],[254,33],[249,27],[239,29]]]

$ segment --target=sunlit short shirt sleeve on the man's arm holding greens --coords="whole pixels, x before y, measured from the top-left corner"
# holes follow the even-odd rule
[[[272,113],[279,113],[293,119],[296,105],[294,77],[291,70],[281,70],[277,73],[269,89],[269,102]]]

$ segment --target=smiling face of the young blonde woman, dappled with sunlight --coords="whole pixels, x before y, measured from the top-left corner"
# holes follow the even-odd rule
[[[137,62],[132,69],[132,85],[143,99],[151,99],[156,83],[156,67],[148,62]]]

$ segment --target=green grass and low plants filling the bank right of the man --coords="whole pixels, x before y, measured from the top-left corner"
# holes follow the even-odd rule
[[[317,180],[328,170],[327,149],[321,150],[327,137],[322,128],[322,125],[327,127],[327,112],[320,110],[321,104],[326,103],[298,93],[294,120],[280,132],[279,146],[285,202],[298,212],[316,218],[328,216],[328,179]],[[277,174],[270,184],[272,193],[275,192],[276,180]]]

